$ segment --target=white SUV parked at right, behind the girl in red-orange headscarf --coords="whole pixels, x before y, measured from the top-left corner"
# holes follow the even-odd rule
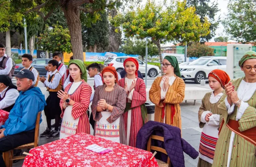
[[[194,80],[200,83],[208,77],[214,69],[226,70],[227,57],[224,56],[203,56],[188,65],[180,65],[180,73],[183,80]]]

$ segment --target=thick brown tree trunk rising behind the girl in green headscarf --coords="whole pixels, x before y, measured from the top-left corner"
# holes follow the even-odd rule
[[[80,10],[78,6],[62,7],[71,37],[72,52],[75,59],[84,61],[82,45],[82,27],[80,21]]]

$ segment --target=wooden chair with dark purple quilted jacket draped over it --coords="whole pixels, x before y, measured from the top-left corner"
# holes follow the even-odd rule
[[[155,150],[155,151],[162,152],[162,153],[164,153],[164,154],[166,154],[168,156],[168,154],[167,154],[165,149],[163,149],[161,147],[151,146],[151,140],[152,139],[160,140],[160,141],[164,142],[164,137],[156,136],[156,135],[151,135],[149,137],[149,140],[148,140],[147,151]],[[169,156],[167,158],[167,163],[165,163],[163,161],[160,161],[158,159],[157,159],[157,163],[158,163],[159,167],[171,167],[171,160],[170,160]]]

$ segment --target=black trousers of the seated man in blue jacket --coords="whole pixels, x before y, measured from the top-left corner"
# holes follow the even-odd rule
[[[15,135],[7,135],[0,139],[0,153],[12,150],[23,144],[34,142],[35,132],[21,132]],[[0,166],[5,167],[4,159],[0,156]]]

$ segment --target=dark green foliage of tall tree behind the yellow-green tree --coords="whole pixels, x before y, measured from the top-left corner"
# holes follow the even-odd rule
[[[187,0],[187,7],[195,7],[195,13],[199,16],[201,23],[205,22],[205,18],[210,23],[210,33],[201,37],[201,41],[209,41],[215,36],[215,31],[219,26],[220,16],[215,20],[216,14],[220,11],[218,3],[216,1],[210,4],[210,0]]]

